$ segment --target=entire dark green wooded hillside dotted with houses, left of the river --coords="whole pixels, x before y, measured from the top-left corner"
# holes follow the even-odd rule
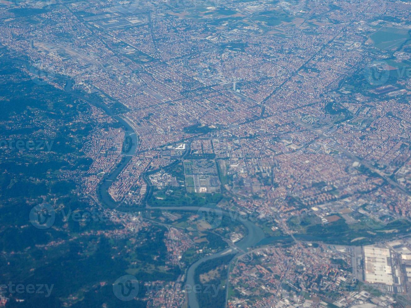
[[[166,228],[150,226],[121,238],[103,235],[124,227],[94,209],[76,182],[62,177],[85,172],[92,163],[81,149],[96,123],[87,116],[89,105],[78,99],[90,95],[38,82],[22,66],[24,60],[0,57],[0,138],[53,143],[50,149],[0,149],[0,271],[6,282],[54,286],[50,297],[23,293],[18,297],[25,301],[7,305],[145,307],[143,285],[139,300],[130,302],[117,299],[112,285],[126,274],[141,284],[177,279],[180,268],[166,264]],[[30,210],[42,202],[55,209],[54,224],[45,230],[29,221]]]

